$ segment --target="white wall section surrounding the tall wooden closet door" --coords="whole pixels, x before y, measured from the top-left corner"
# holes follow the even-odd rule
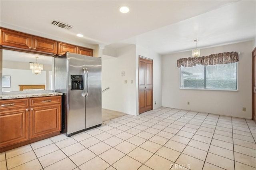
[[[162,106],[162,58],[161,55],[154,51],[136,45],[136,113],[139,108],[139,55],[153,59],[153,109]],[[155,105],[156,101],[156,105]]]

